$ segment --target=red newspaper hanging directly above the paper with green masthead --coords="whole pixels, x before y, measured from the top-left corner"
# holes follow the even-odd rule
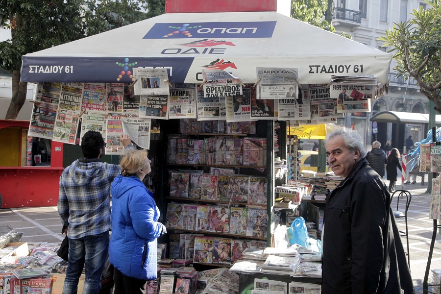
[[[106,83],[85,83],[81,108],[83,110],[107,111]],[[110,104],[109,111],[111,110]]]

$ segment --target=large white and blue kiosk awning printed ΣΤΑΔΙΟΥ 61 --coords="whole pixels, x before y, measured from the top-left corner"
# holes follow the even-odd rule
[[[128,72],[145,67],[168,69],[171,83],[200,83],[208,68],[254,84],[256,67],[274,67],[298,69],[304,84],[329,83],[332,74],[375,75],[386,83],[391,60],[390,53],[273,11],[169,13],[26,54],[21,78],[132,82]]]

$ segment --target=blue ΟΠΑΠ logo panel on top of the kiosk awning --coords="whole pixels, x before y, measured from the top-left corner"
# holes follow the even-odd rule
[[[276,22],[218,22],[155,24],[143,39],[183,38],[271,38]]]

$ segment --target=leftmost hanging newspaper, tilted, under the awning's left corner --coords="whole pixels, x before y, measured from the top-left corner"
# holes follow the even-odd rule
[[[53,128],[61,94],[61,83],[39,83],[27,135],[53,138]],[[50,96],[50,97],[49,97]]]

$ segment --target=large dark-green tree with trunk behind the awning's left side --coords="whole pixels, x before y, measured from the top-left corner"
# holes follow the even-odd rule
[[[0,0],[6,14],[0,26],[11,29],[11,39],[0,42],[0,66],[12,72],[5,119],[17,118],[26,100],[23,55],[144,20],[164,7],[165,0]]]

